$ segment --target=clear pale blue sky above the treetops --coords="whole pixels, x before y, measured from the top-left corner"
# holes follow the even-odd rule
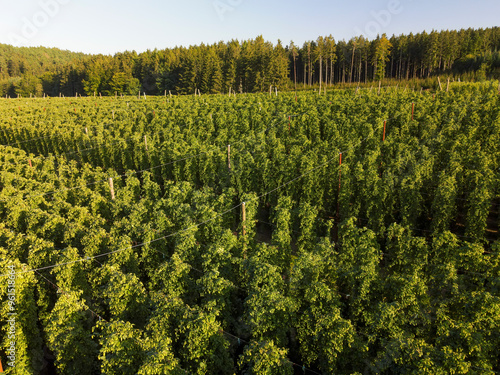
[[[499,26],[499,0],[0,0],[0,43],[114,54],[263,35],[302,45],[320,35]]]

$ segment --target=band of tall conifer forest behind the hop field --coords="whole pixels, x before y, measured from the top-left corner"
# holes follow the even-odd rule
[[[374,40],[320,36],[302,46],[253,40],[114,56],[0,45],[0,96],[163,95],[321,89],[384,79],[500,78],[500,28],[431,31]],[[428,80],[431,79],[431,83]],[[322,86],[322,87],[321,87]]]

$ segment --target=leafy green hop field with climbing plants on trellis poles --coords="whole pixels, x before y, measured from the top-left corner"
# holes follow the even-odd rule
[[[0,99],[5,373],[499,373],[499,82],[450,81]]]

